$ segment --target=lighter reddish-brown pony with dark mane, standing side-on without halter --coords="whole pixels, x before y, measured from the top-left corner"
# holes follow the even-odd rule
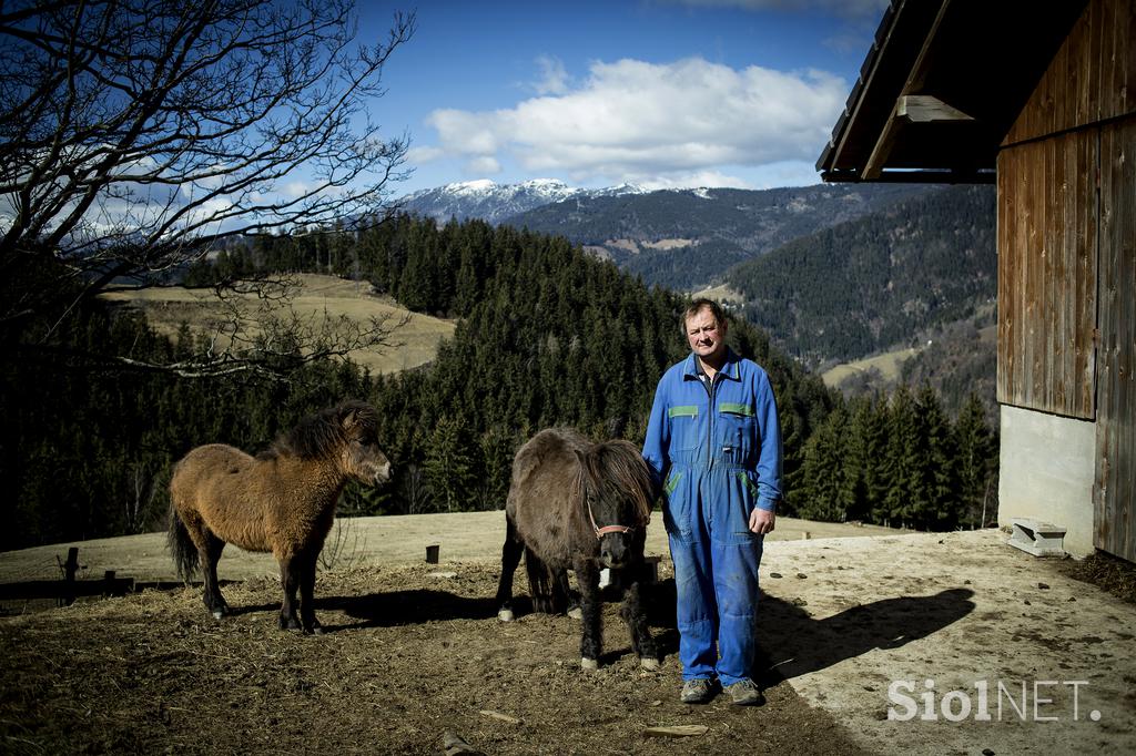
[[[311,594],[335,502],[348,478],[381,484],[391,477],[391,463],[376,443],[377,426],[374,408],[349,401],[304,418],[256,457],[208,444],[174,467],[170,551],[183,579],[202,568],[206,608],[215,618],[228,613],[217,585],[217,561],[225,544],[233,544],[272,552],[279,562],[281,628],[319,632]]]

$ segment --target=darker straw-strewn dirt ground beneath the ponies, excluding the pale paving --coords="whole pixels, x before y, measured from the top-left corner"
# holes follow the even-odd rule
[[[279,588],[265,578],[225,588],[237,614],[222,622],[197,589],[5,619],[0,750],[433,754],[449,733],[486,754],[860,753],[788,683],[754,709],[678,703],[666,611],[659,672],[640,670],[615,603],[602,666],[582,671],[574,620],[498,622],[496,577],[484,563],[331,572],[318,637],[275,628]],[[705,733],[645,734],[692,724]]]

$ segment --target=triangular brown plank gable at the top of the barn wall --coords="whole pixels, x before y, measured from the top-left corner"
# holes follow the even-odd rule
[[[1136,0],[1091,0],[1002,144],[1131,112],[1136,112]]]

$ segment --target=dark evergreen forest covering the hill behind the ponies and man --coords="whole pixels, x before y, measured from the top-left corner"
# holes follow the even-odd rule
[[[183,278],[210,286],[267,271],[369,282],[412,311],[456,320],[457,330],[431,364],[398,373],[316,360],[182,377],[128,366],[208,348],[189,327],[167,338],[139,312],[99,300],[59,324],[44,314],[9,345],[18,359],[5,361],[0,378],[0,548],[161,529],[170,465],[190,448],[216,442],[256,453],[348,397],[378,408],[395,472],[382,488],[349,487],[341,515],[500,509],[513,452],[542,428],[642,443],[655,384],[686,354],[684,297],[562,237],[508,226],[438,227],[401,215],[350,233],[265,235]],[[774,381],[783,514],[952,529],[994,511],[996,438],[977,400],[954,418],[928,386],[845,402],[763,330],[738,319],[729,334]],[[108,354],[130,361],[94,356]]]

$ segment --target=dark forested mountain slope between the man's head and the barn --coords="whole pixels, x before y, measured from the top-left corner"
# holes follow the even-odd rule
[[[794,240],[726,276],[744,314],[809,364],[911,346],[991,311],[994,190],[959,186]]]

